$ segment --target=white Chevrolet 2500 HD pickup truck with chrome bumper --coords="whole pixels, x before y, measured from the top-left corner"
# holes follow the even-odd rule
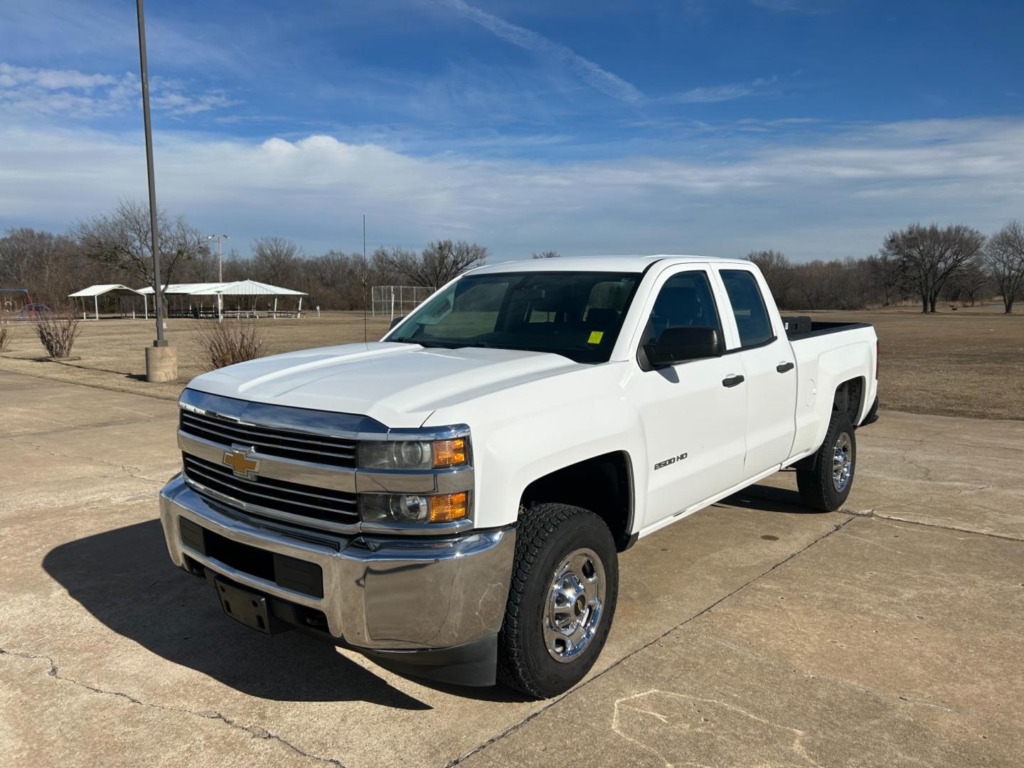
[[[783,467],[807,505],[846,500],[874,330],[791,322],[746,261],[474,269],[380,342],[193,380],[161,494],[171,559],[253,629],[560,693],[600,653],[638,538]]]

